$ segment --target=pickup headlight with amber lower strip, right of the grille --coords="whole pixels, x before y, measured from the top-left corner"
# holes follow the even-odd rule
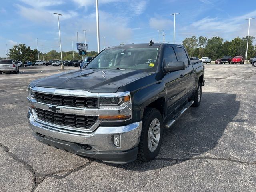
[[[99,120],[124,121],[131,118],[130,92],[99,94]]]

